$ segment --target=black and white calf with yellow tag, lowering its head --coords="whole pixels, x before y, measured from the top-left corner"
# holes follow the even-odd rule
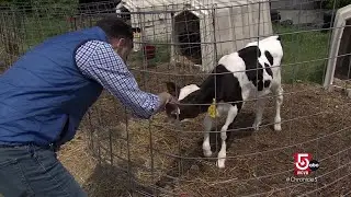
[[[270,36],[246,45],[245,48],[225,55],[217,67],[200,85],[189,84],[177,88],[174,83],[167,82],[169,93],[178,97],[180,105],[166,106],[168,116],[176,120],[195,118],[207,112],[208,104],[216,95],[216,116],[226,116],[226,121],[220,129],[222,148],[218,153],[217,166],[225,166],[226,131],[242,108],[246,101],[257,99],[258,107],[253,128],[259,129],[262,120],[264,102],[269,93],[275,96],[274,129],[281,130],[281,105],[283,103],[283,89],[281,85],[281,60],[283,48],[279,36]],[[257,69],[258,68],[258,69]],[[262,97],[263,96],[263,97]],[[197,104],[197,105],[196,105]],[[207,104],[207,105],[201,105]],[[210,131],[214,118],[206,114],[204,118],[203,152],[211,157]]]

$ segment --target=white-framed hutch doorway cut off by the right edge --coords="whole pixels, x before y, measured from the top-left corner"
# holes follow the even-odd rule
[[[324,86],[342,88],[350,92],[351,79],[351,4],[336,13],[330,44],[328,68]],[[332,90],[332,89],[331,89]]]

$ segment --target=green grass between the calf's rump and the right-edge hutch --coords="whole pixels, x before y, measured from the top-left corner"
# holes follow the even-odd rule
[[[297,27],[273,26],[282,34],[284,58],[282,78],[284,83],[321,83],[328,57],[329,33]]]

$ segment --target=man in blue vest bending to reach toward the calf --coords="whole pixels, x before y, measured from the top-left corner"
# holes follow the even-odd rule
[[[0,194],[86,196],[56,150],[73,138],[103,88],[140,118],[172,99],[138,89],[125,65],[132,48],[132,27],[109,16],[45,40],[0,77]]]

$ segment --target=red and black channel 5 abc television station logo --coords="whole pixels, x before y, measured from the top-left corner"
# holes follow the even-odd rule
[[[294,165],[296,176],[308,175],[319,169],[319,162],[314,160],[310,153],[294,153]]]

